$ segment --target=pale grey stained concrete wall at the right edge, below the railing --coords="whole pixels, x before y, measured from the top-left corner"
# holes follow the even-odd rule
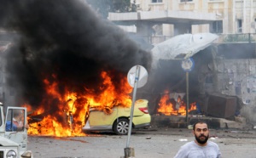
[[[217,76],[218,92],[238,96],[241,116],[256,122],[256,59],[221,59]]]

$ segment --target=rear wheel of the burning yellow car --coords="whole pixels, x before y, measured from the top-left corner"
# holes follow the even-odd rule
[[[118,135],[126,135],[129,130],[129,120],[125,118],[118,119],[113,125],[113,132]]]

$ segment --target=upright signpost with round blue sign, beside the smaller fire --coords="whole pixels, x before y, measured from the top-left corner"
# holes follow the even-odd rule
[[[183,71],[186,72],[186,89],[187,89],[187,107],[186,107],[186,121],[189,123],[188,113],[189,113],[189,71],[192,71],[194,68],[194,59],[184,59],[182,61]]]

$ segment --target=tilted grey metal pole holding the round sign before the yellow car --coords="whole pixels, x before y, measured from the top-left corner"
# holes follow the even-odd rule
[[[126,142],[126,148],[128,148],[129,145],[130,145],[133,110],[134,110],[134,104],[135,104],[135,100],[136,100],[137,82],[139,80],[139,76],[140,76],[140,66],[137,65],[136,76],[135,76],[134,87],[133,87],[132,104],[131,104],[131,116],[130,116],[130,122],[129,122],[129,131],[128,131],[128,137],[127,137],[127,142]]]

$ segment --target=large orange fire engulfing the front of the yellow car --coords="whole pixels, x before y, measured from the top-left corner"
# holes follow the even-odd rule
[[[62,95],[56,90],[57,82],[44,79],[47,95],[42,100],[42,104],[28,115],[28,134],[57,137],[82,136],[85,135],[82,127],[88,117],[90,107],[104,110],[116,105],[131,106],[129,93],[132,87],[129,86],[126,77],[122,77],[120,81],[122,86],[116,87],[106,71],[102,71],[101,76],[102,85],[97,87],[103,89],[100,94],[95,93],[96,89],[86,88],[86,94],[63,89],[65,93]],[[55,103],[58,103],[57,107],[52,108],[52,104]],[[32,105],[25,104],[25,106],[28,111],[32,110]]]

